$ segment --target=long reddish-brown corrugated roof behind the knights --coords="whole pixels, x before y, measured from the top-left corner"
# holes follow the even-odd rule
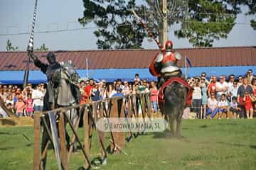
[[[183,59],[189,58],[193,67],[225,67],[256,65],[256,47],[210,47],[176,49]],[[77,69],[148,68],[159,50],[81,50],[57,51],[58,62],[72,60]],[[46,62],[47,52],[36,52]],[[184,60],[178,62],[184,67]],[[24,70],[27,52],[0,52],[0,70]],[[38,69],[33,63],[30,69]]]

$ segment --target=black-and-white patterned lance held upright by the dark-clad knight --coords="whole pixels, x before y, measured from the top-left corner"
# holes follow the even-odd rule
[[[31,60],[30,60],[31,56],[30,55],[33,52],[33,35],[34,35],[34,29],[35,29],[35,23],[36,23],[37,4],[38,4],[38,0],[36,0],[36,2],[35,2],[35,8],[34,8],[34,12],[33,12],[32,29],[31,29],[31,36],[29,38],[28,47],[27,47],[28,60],[27,60],[27,63],[26,63],[26,70],[25,70],[24,77],[23,77],[23,88],[26,87],[27,84],[28,84],[29,63],[31,62]]]

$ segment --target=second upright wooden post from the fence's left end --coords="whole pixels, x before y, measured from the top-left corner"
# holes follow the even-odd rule
[[[67,155],[67,146],[65,142],[65,122],[63,117],[63,112],[60,113],[59,120],[59,136],[60,136],[60,160],[63,164],[63,169],[68,170],[68,155]]]

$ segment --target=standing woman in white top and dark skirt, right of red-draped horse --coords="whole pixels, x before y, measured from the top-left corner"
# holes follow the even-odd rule
[[[193,111],[197,114],[197,118],[201,119],[202,92],[198,80],[196,81],[197,82],[193,87],[192,107]]]

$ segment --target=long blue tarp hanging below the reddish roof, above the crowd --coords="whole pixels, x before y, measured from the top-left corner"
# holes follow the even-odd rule
[[[185,69],[181,68],[185,74]],[[201,72],[206,72],[207,76],[235,74],[235,76],[244,75],[248,69],[252,69],[256,72],[256,66],[235,66],[235,67],[191,67],[187,69],[188,77],[195,77],[201,75]],[[107,82],[114,81],[116,79],[122,79],[122,81],[133,81],[134,74],[139,74],[141,79],[156,80],[149,73],[149,69],[89,69],[89,77],[95,79],[105,79]],[[80,77],[86,77],[85,69],[78,69]],[[23,71],[0,71],[0,83],[1,84],[23,84]],[[32,84],[38,84],[40,82],[46,82],[46,75],[41,71],[30,71],[28,81]]]

